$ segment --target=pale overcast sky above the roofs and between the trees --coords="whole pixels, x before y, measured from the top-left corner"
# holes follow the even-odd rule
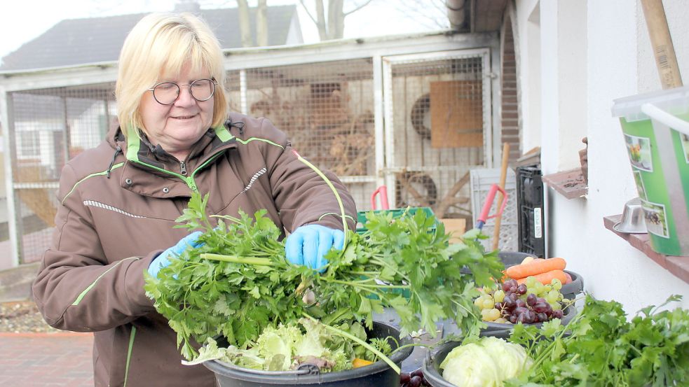
[[[356,3],[364,0],[345,0],[345,10],[351,9]],[[435,0],[403,0],[407,4],[433,3]],[[143,13],[166,11],[175,8],[177,0],[9,0],[3,1],[0,8],[0,57],[17,50],[22,44],[53,27],[64,19],[79,19],[82,17],[99,17],[123,15],[128,13]],[[201,8],[230,8],[236,7],[235,0],[198,0]],[[250,6],[255,1],[249,1]],[[299,4],[298,0],[268,0],[268,6],[282,4]],[[313,0],[304,0],[311,4]],[[432,7],[425,6],[426,15],[402,9],[400,0],[373,0],[370,4],[345,19],[345,38],[360,36],[378,36],[386,34],[403,34],[439,29],[429,17],[442,20],[443,15],[435,12]],[[428,5],[428,4],[426,4]],[[313,22],[299,8],[299,22],[301,22],[305,43],[318,41],[318,31]],[[385,21],[381,21],[381,17]],[[385,24],[383,26],[383,24]],[[84,31],[88,34],[88,31]]]

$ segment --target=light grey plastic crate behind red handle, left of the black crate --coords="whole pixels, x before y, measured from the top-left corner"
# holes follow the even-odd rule
[[[471,205],[474,210],[472,218],[473,223],[476,224],[477,218],[481,215],[481,210],[486,202],[486,197],[491,189],[491,185],[500,183],[500,169],[472,169],[470,172],[471,180]],[[507,176],[505,178],[505,192],[507,192],[507,204],[505,211],[500,218],[500,234],[498,238],[498,248],[500,251],[518,251],[519,248],[519,225],[517,223],[517,177],[514,175],[512,169],[507,169]],[[493,200],[493,206],[489,216],[498,213],[498,197],[496,195]],[[493,248],[493,235],[495,232],[496,220],[491,218],[486,220],[483,226],[483,233],[489,239],[482,239],[481,243],[490,251]]]

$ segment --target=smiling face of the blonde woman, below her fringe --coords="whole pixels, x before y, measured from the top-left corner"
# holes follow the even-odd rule
[[[179,85],[179,97],[170,105],[159,104],[150,91],[144,93],[139,105],[144,132],[154,146],[160,144],[165,151],[183,161],[189,150],[210,127],[213,119],[213,99],[197,101],[189,92],[189,84],[198,79],[210,79],[210,72],[198,72],[184,66],[179,76],[163,74],[161,82]],[[153,85],[151,85],[153,87]]]

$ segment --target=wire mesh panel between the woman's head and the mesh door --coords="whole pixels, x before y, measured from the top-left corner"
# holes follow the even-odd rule
[[[249,115],[270,119],[303,157],[341,176],[358,209],[369,209],[376,176],[371,59],[247,69],[246,83]]]

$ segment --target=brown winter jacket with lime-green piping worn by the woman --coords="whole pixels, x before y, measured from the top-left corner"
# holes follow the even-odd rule
[[[144,271],[186,234],[172,227],[192,190],[210,192],[210,213],[267,209],[288,231],[342,228],[332,190],[297,160],[285,133],[266,119],[233,113],[229,122],[210,129],[186,162],[113,130],[62,169],[53,243],[33,294],[53,327],[94,332],[95,386],[215,385],[203,365],[180,363],[175,332],[144,294]],[[327,175],[354,227],[352,197]]]

